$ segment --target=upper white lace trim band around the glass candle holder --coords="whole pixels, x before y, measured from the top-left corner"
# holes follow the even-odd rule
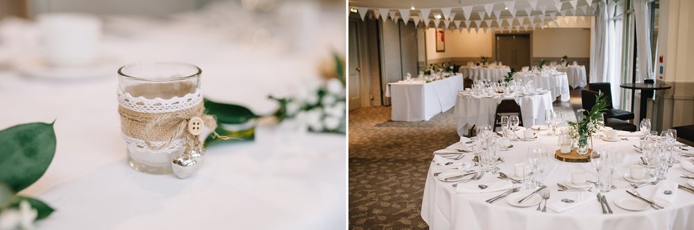
[[[122,107],[133,110],[135,112],[156,114],[176,112],[183,109],[192,108],[203,101],[203,92],[201,89],[196,89],[193,94],[186,94],[182,98],[175,96],[170,99],[154,98],[147,99],[142,96],[133,97],[123,91],[118,91],[118,102]]]

